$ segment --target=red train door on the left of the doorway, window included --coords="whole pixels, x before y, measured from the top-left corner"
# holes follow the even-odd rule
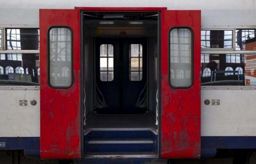
[[[39,28],[41,158],[80,158],[80,10],[40,9]]]

